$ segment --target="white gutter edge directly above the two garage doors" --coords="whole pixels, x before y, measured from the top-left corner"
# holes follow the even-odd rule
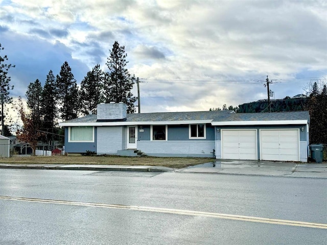
[[[248,126],[248,125],[303,125],[308,120],[271,120],[271,121],[213,121],[212,126]]]

